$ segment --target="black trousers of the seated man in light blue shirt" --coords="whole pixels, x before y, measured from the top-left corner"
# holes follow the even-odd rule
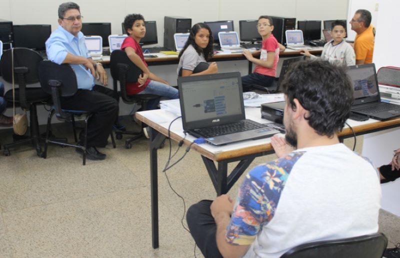
[[[61,98],[61,107],[92,113],[87,122],[87,147],[104,147],[118,118],[118,94],[113,90],[94,85],[93,90],[78,89],[75,95]],[[83,143],[80,136],[81,145]]]

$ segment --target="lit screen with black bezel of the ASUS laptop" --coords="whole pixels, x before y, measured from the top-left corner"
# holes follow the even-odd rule
[[[185,130],[245,119],[239,72],[179,77],[178,87]]]

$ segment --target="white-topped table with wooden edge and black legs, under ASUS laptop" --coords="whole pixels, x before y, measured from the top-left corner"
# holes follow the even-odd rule
[[[137,112],[136,117],[149,125],[150,130],[150,183],[151,183],[151,226],[152,226],[152,247],[158,248],[158,177],[157,177],[157,149],[168,135],[168,126],[176,118],[170,112],[164,110],[151,110]],[[246,118],[256,122],[267,123],[261,119],[259,108],[246,108]],[[377,121],[369,119],[364,122],[347,120],[356,135],[381,131],[400,126],[400,118]],[[352,137],[350,128],[344,128],[339,134],[340,139]],[[174,141],[184,139],[181,118],[171,124],[170,138]],[[184,145],[189,145],[195,138],[187,135]],[[207,172],[211,178],[217,195],[225,194],[241,176],[245,169],[251,164],[254,158],[273,153],[270,139],[259,139],[245,141],[216,147],[209,144],[193,144],[191,150],[197,151],[203,160]],[[227,165],[239,161],[229,175]],[[217,162],[217,167],[215,163]]]

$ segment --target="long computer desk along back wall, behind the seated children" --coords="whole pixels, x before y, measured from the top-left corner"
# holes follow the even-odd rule
[[[309,50],[310,53],[319,55],[322,52],[322,47],[318,47],[313,50]],[[146,60],[147,65],[166,65],[166,64],[177,64],[179,62],[178,55],[165,55],[162,53],[155,53],[152,55],[157,55],[157,57],[146,57],[144,60]],[[260,51],[255,51],[253,52],[253,56],[259,56]],[[300,51],[296,50],[291,50],[291,49],[285,49],[284,52],[279,53],[280,57],[295,57],[295,56],[300,56]],[[225,54],[225,53],[218,53],[212,56],[212,58],[209,60],[210,62],[219,62],[219,61],[235,61],[235,60],[245,60],[246,58],[244,57],[243,54],[241,53],[236,53],[236,54]],[[109,64],[110,56],[109,55],[104,55],[99,62],[107,65]],[[252,63],[248,62],[248,73],[252,72]]]

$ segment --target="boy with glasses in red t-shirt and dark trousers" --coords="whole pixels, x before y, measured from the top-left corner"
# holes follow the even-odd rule
[[[258,59],[249,50],[243,51],[247,60],[255,64],[253,73],[241,77],[243,91],[250,91],[253,85],[269,87],[276,77],[276,64],[279,60],[280,46],[272,35],[272,18],[265,15],[259,16],[257,30],[262,38],[261,54]]]

